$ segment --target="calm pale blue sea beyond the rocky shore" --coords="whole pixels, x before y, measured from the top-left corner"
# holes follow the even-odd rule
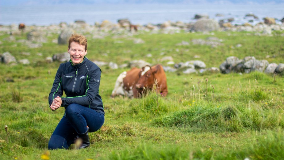
[[[120,5],[42,5],[42,6],[1,6],[0,25],[25,23],[26,25],[48,26],[61,22],[74,23],[82,20],[90,25],[108,20],[117,23],[119,19],[128,19],[132,24],[161,24],[165,21],[191,23],[196,14],[208,15],[210,19],[227,20],[232,24],[263,22],[263,18],[272,17],[281,24],[284,18],[282,4],[120,4]],[[258,17],[246,17],[253,14]]]

